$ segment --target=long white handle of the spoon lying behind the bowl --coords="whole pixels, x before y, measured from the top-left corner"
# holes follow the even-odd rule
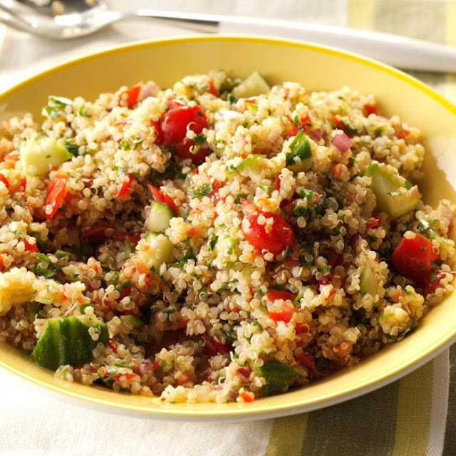
[[[456,48],[389,33],[298,21],[181,11],[138,10],[134,14],[155,17],[204,33],[276,36],[311,41],[360,53],[363,56],[407,70],[456,72]]]

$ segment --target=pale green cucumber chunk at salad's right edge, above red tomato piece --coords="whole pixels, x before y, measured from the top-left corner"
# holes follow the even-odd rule
[[[392,219],[407,214],[420,201],[418,187],[410,187],[410,182],[383,163],[371,163],[366,170],[366,176],[372,179],[377,209],[386,212]]]

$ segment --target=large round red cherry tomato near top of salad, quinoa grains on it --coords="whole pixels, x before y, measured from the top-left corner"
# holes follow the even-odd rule
[[[202,147],[193,154],[195,141],[186,135],[187,128],[198,135],[206,127],[207,117],[200,106],[177,105],[162,115],[163,144],[165,147],[175,147],[175,152],[182,158],[190,158],[194,163],[202,162],[207,155],[207,149]]]

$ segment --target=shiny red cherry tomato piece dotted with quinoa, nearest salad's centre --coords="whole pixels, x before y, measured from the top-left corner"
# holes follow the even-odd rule
[[[282,217],[272,212],[259,212],[254,204],[247,203],[245,199],[242,204],[244,204],[242,232],[250,244],[259,250],[269,250],[272,254],[284,252],[286,247],[294,244],[293,229]],[[266,232],[266,225],[258,223],[261,215],[266,219],[272,219],[271,231]]]

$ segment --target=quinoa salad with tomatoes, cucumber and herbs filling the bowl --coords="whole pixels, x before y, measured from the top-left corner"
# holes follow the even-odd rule
[[[420,132],[349,88],[223,71],[0,125],[0,339],[56,375],[250,402],[353,366],[449,294]]]

